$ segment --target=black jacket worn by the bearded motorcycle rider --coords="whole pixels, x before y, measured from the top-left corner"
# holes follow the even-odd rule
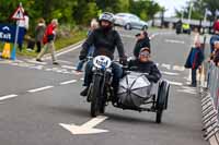
[[[125,58],[124,45],[122,43],[119,34],[114,31],[104,31],[101,27],[93,31],[93,33],[88,37],[88,39],[82,45],[82,50],[80,52],[79,59],[85,59],[89,52],[89,48],[94,45],[93,57],[104,55],[114,58],[115,47],[117,47],[119,58]]]

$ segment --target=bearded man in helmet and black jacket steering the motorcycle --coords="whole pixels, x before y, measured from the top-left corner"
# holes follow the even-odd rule
[[[94,45],[95,50],[93,57],[104,55],[114,59],[115,47],[117,47],[119,55],[119,62],[126,63],[127,57],[125,56],[124,45],[122,43],[119,34],[113,29],[114,15],[112,13],[105,12],[100,16],[100,27],[94,29],[93,33],[88,37],[85,43],[82,45],[82,50],[80,52],[79,59],[85,59],[89,48]],[[84,75],[84,86],[85,88],[80,93],[81,96],[87,96],[90,83],[92,82],[92,67],[93,62],[89,61],[85,67]],[[123,75],[122,68],[112,63],[113,70],[113,87],[114,94],[117,92],[119,78]]]

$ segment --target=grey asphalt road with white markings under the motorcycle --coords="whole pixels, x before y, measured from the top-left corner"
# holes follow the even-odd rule
[[[119,33],[131,56],[137,32]],[[60,65],[53,65],[50,60],[0,60],[0,145],[207,145],[200,131],[200,98],[195,88],[186,86],[189,72],[183,68],[191,37],[169,31],[153,31],[151,35],[152,60],[171,83],[161,124],[154,123],[155,113],[111,105],[104,114],[107,119],[93,123],[90,105],[79,95],[83,74],[73,71],[79,48],[59,56]],[[88,121],[107,132],[79,135],[60,125]]]

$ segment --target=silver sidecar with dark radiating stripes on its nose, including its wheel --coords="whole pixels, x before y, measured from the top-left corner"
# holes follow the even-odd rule
[[[163,110],[168,109],[169,89],[165,80],[151,83],[145,73],[130,72],[119,82],[116,107],[155,112],[155,122],[161,123]]]

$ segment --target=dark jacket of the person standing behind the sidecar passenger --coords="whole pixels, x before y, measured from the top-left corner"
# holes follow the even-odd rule
[[[148,36],[146,36],[145,39],[137,40],[136,46],[134,48],[134,56],[136,58],[138,58],[140,49],[143,48],[143,47],[150,48],[150,39],[149,39]]]

